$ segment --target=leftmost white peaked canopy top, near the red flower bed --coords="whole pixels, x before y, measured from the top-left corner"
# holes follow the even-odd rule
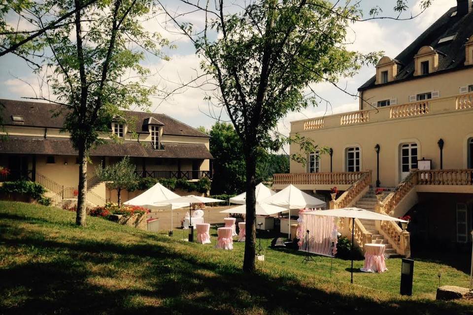
[[[141,206],[148,209],[156,209],[169,205],[170,203],[167,202],[167,200],[177,197],[179,197],[177,193],[174,193],[160,183],[157,183],[150,189],[144,191],[142,194],[124,202],[124,204],[129,206]],[[187,206],[187,204],[173,204],[172,209],[182,208],[185,206]]]

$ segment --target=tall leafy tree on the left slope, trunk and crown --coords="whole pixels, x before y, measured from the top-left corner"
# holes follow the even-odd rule
[[[1,54],[16,53],[48,73],[53,96],[35,98],[59,104],[55,115],[66,116],[64,128],[80,162],[76,223],[85,226],[89,150],[101,144],[99,135],[110,133],[110,122],[121,109],[150,105],[148,96],[155,87],[143,84],[149,70],[140,61],[144,52],[164,57],[159,49],[168,42],[141,26],[145,15],[154,14],[150,0],[16,2],[22,5],[11,10],[28,14],[34,36],[15,34],[0,23]]]

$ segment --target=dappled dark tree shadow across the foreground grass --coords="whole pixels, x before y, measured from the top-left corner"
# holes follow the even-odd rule
[[[6,232],[14,226],[5,224]],[[470,314],[470,307],[427,300],[376,301],[327,292],[294,277],[245,274],[161,246],[163,237],[142,234],[148,244],[84,239],[45,240],[30,231],[0,235],[6,248],[35,248],[45,262],[20,260],[0,269],[2,312],[154,314]],[[139,242],[140,239],[138,238]],[[171,248],[171,249],[169,249]],[[12,295],[14,294],[14,296]],[[5,304],[7,303],[7,305]]]

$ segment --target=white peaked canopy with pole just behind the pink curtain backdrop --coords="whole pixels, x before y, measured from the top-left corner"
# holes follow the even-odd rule
[[[269,203],[274,206],[289,209],[289,239],[291,239],[291,209],[319,208],[325,207],[325,201],[305,193],[294,185],[289,185],[285,189],[276,192],[262,203]]]

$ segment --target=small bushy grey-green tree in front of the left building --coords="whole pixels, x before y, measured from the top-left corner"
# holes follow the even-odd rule
[[[135,165],[130,162],[129,157],[122,158],[118,163],[97,168],[96,175],[102,182],[106,182],[108,189],[117,191],[118,206],[121,204],[121,192],[123,189],[135,189],[138,184],[138,176],[135,173]]]

